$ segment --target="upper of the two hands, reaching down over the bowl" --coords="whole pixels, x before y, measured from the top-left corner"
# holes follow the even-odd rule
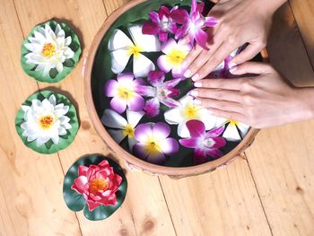
[[[232,51],[245,43],[248,47],[234,57],[229,66],[240,65],[255,57],[266,47],[272,16],[276,8],[274,2],[285,0],[221,0],[214,5],[209,15],[218,19],[218,24],[208,33],[213,35],[208,42],[208,51],[198,45],[182,63],[187,68],[186,77],[193,81],[203,79],[222,63]],[[273,3],[271,3],[273,2]],[[280,4],[279,4],[280,5]],[[187,41],[188,39],[186,39]]]

